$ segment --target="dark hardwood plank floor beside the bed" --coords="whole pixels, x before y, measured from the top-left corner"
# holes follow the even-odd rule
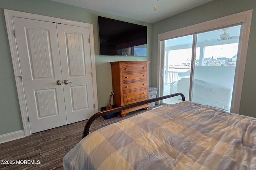
[[[155,106],[157,107],[157,105]],[[154,107],[152,107],[154,108]],[[150,108],[150,109],[152,109]],[[99,117],[91,127],[90,132],[106,125],[127,119],[147,110],[133,111],[125,117],[104,119]],[[28,137],[0,144],[0,160],[13,160],[15,164],[0,164],[1,170],[61,170],[63,169],[63,157],[81,139],[86,121],[80,121],[69,125],[56,127],[46,131],[34,133]],[[31,160],[33,164],[16,164],[16,160]],[[34,161],[34,162],[33,162]],[[39,164],[35,164],[38,163]]]

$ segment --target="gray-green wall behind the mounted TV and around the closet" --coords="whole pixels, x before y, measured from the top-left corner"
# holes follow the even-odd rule
[[[23,129],[6,31],[4,9],[93,24],[98,107],[104,107],[108,104],[110,92],[112,92],[110,61],[150,61],[151,59],[152,24],[103,14],[50,0],[0,0],[0,135]],[[98,15],[147,26],[149,47],[147,57],[100,56],[98,45]]]

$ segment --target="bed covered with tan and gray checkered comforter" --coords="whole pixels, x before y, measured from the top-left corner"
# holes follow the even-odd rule
[[[182,101],[90,134],[87,126],[84,138],[64,156],[64,169],[256,169],[256,118],[214,107]]]

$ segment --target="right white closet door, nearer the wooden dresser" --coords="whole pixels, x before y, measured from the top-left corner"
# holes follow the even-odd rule
[[[94,114],[89,29],[57,24],[67,122]]]

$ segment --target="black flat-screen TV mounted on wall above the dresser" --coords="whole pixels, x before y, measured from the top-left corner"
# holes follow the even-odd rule
[[[98,16],[100,55],[146,56],[147,27]]]

